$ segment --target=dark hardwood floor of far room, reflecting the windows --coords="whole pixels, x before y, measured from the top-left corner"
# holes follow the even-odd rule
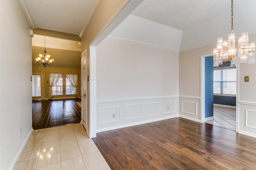
[[[76,102],[81,99],[33,100],[33,129],[80,123],[81,107]]]

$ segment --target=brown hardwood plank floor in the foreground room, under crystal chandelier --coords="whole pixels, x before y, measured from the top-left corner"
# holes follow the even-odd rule
[[[173,118],[97,133],[112,170],[255,170],[256,138]]]

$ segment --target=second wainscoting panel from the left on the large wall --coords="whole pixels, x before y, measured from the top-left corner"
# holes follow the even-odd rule
[[[124,119],[135,119],[142,117],[142,104],[124,106]]]

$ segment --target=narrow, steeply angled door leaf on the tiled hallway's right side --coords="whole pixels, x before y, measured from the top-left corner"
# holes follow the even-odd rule
[[[82,55],[82,124],[87,131],[87,103],[86,103],[86,63],[87,62],[87,51]]]

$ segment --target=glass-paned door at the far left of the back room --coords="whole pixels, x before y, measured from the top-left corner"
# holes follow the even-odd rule
[[[44,74],[32,74],[32,100],[44,100]]]

